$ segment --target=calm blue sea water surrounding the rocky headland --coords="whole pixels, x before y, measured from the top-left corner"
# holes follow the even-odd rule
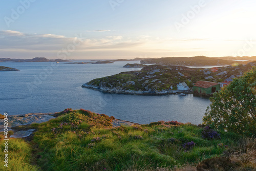
[[[86,60],[82,60],[86,61]],[[129,61],[138,63],[139,61]],[[0,113],[9,115],[87,109],[137,123],[177,120],[199,124],[210,101],[179,95],[136,96],[81,88],[94,78],[124,71],[127,62],[65,64],[51,62],[1,63],[20,71],[0,72]],[[51,65],[57,65],[51,66]]]

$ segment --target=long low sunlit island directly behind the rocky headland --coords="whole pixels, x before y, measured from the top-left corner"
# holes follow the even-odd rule
[[[204,67],[204,66],[226,66],[234,63],[233,59],[222,59],[206,56],[194,57],[163,57],[150,58],[141,60],[141,64],[157,64],[162,66],[190,66],[190,67]],[[246,64],[248,61],[236,61],[239,64]]]

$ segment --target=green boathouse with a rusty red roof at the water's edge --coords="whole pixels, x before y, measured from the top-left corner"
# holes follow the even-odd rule
[[[220,90],[220,84],[209,81],[197,81],[194,84],[193,92],[203,95],[211,95]]]

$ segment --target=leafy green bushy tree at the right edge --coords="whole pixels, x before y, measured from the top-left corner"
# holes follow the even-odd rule
[[[210,98],[203,123],[217,130],[256,135],[256,68]]]

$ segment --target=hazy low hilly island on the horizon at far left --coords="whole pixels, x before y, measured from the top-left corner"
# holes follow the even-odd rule
[[[45,57],[35,57],[33,59],[12,59],[0,58],[0,62],[69,62],[70,60],[63,59],[47,59]]]

